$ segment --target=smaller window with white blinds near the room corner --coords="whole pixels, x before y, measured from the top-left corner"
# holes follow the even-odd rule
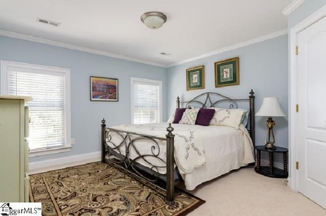
[[[161,122],[162,82],[131,77],[131,123]]]

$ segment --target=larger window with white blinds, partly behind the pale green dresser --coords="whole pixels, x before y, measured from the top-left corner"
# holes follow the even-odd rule
[[[70,70],[1,61],[1,93],[31,96],[30,155],[69,151]]]

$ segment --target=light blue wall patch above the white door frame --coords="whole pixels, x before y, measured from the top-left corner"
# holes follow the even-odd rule
[[[306,0],[288,16],[288,29],[291,29],[325,5],[325,0]]]

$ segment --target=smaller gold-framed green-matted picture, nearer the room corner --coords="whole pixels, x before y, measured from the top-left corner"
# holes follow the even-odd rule
[[[204,65],[189,68],[186,70],[187,90],[204,89],[205,88],[205,69]]]

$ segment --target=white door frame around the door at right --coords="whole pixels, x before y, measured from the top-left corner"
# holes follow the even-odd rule
[[[291,28],[289,35],[289,177],[287,185],[294,191],[298,191],[298,172],[296,172],[296,161],[298,161],[298,150],[296,148],[296,134],[298,134],[298,128],[296,127],[298,125],[298,116],[296,113],[296,104],[298,101],[298,61],[295,53],[295,47],[298,44],[297,34],[325,16],[326,5]]]

